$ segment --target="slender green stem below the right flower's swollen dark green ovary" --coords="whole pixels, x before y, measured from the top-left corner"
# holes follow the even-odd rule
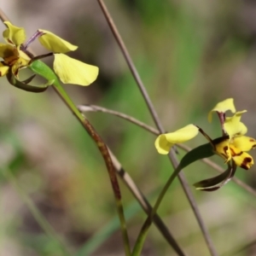
[[[135,243],[135,246],[133,248],[133,251],[131,253],[131,256],[139,256],[141,255],[142,249],[143,249],[143,244],[144,241],[146,240],[146,237],[148,235],[148,230],[150,225],[153,222],[154,219],[154,215],[156,214],[158,207],[160,206],[160,202],[162,201],[162,199],[164,198],[164,196],[166,195],[166,191],[169,189],[169,187],[171,186],[173,180],[175,179],[175,177],[177,177],[177,174],[182,171],[182,166],[177,166],[177,168],[175,169],[174,172],[172,172],[171,177],[169,177],[169,179],[166,182],[165,187],[161,190],[159,197],[157,198],[157,201],[154,204],[154,207],[152,209],[152,211],[150,212],[150,214],[148,214],[148,218],[146,219],[146,221],[143,224],[143,227],[139,233],[139,235],[137,236],[137,241]]]

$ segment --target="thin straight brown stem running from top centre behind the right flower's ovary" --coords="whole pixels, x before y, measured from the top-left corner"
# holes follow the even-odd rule
[[[119,44],[119,48],[120,48],[120,50],[122,51],[122,53],[125,57],[125,61],[128,65],[128,67],[130,68],[134,79],[137,82],[138,88],[141,91],[145,102],[147,103],[148,110],[151,113],[152,118],[154,119],[155,125],[158,127],[158,130],[160,131],[160,133],[164,133],[165,130],[164,130],[163,126],[160,123],[160,119],[158,118],[157,113],[154,110],[154,106],[153,106],[153,104],[152,104],[152,102],[151,102],[151,100],[148,96],[148,92],[145,89],[145,86],[142,82],[142,79],[140,78],[139,74],[137,73],[137,68],[133,64],[133,61],[131,60],[131,56],[130,56],[128,50],[125,47],[125,43],[123,42],[121,36],[119,35],[118,29],[115,26],[115,24],[113,22],[113,19],[111,18],[111,15],[109,14],[105,3],[103,2],[103,0],[98,0],[98,3],[99,3],[99,5],[102,9],[102,12],[103,12],[103,14],[104,14],[104,16],[105,16],[105,18],[108,22],[108,25],[109,25],[111,31],[113,32],[113,37],[116,39],[117,43]],[[177,161],[177,157],[176,157],[173,150],[170,152],[169,158],[172,161],[172,166],[174,168],[176,168],[178,161]],[[205,241],[207,242],[207,247],[208,247],[212,256],[217,256],[218,253],[217,253],[215,247],[213,246],[212,239],[211,239],[211,237],[210,237],[210,235],[207,231],[206,225],[204,224],[204,222],[201,218],[201,214],[200,214],[199,209],[196,205],[195,198],[192,195],[192,192],[189,189],[189,186],[188,186],[187,182],[185,181],[185,177],[184,177],[182,172],[179,173],[178,178],[179,178],[180,183],[182,184],[184,193],[185,193],[185,195],[187,196],[187,198],[189,200],[189,204],[192,207],[193,212],[195,213],[195,218],[197,219],[197,222],[199,223],[199,225],[201,227],[201,232],[202,232],[202,234],[205,238]]]

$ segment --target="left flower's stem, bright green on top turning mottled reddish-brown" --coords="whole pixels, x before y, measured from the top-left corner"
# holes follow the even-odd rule
[[[73,101],[67,95],[66,90],[61,86],[59,79],[56,77],[55,73],[42,61],[33,61],[30,68],[32,72],[37,73],[38,75],[44,77],[48,81],[50,81],[56,92],[61,96],[62,100],[66,103],[67,107],[73,112],[75,117],[79,120],[81,125],[84,126],[84,129],[88,132],[90,137],[95,141],[96,146],[99,148],[102,157],[105,161],[105,164],[108,169],[108,175],[112,184],[113,194],[115,197],[115,203],[117,207],[117,211],[119,214],[119,222],[122,230],[122,236],[125,246],[125,255],[130,256],[130,242],[127,234],[126,224],[125,224],[125,215],[124,209],[121,201],[121,193],[119,189],[118,179],[116,177],[115,169],[113,166],[113,162],[111,156],[108,152],[107,145],[103,142],[102,138],[98,135],[95,128],[90,124],[89,120],[85,118],[85,116],[79,112],[79,109],[75,106]]]

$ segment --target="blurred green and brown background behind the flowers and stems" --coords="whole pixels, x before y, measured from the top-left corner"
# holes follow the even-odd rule
[[[237,110],[248,110],[242,121],[248,135],[256,137],[254,1],[105,2],[166,131],[193,123],[218,137],[218,119],[209,124],[207,113],[217,102],[233,97]],[[97,1],[9,0],[1,3],[1,9],[15,26],[26,28],[27,38],[38,28],[55,32],[79,46],[71,56],[100,67],[98,79],[89,87],[65,85],[74,102],[112,108],[154,125]],[[38,43],[32,49],[38,55],[46,53]],[[45,61],[52,63],[50,58]],[[27,75],[24,71],[23,76]],[[153,135],[106,113],[87,116],[145,195],[163,186],[172,167],[167,157],[156,153]],[[201,143],[205,138],[199,136],[188,145]],[[212,160],[224,166],[218,157]],[[102,227],[117,214],[101,155],[54,90],[36,95],[1,79],[0,162],[3,170],[8,169],[0,173],[0,255],[62,255],[55,239],[46,236],[32,217],[23,194],[44,214],[72,255],[124,255],[119,229],[90,253],[79,251],[92,237],[100,241]],[[222,254],[253,241],[256,203],[235,183],[213,193],[192,187],[216,173],[202,163],[185,170],[213,243]],[[255,188],[255,173],[255,167],[239,169],[236,177]],[[131,215],[127,226],[133,243],[145,214],[125,185],[120,185],[125,212]],[[154,203],[155,194],[149,199]],[[159,213],[188,255],[209,255],[177,181]],[[256,247],[250,247],[237,255],[255,254]],[[176,254],[152,227],[143,255]]]

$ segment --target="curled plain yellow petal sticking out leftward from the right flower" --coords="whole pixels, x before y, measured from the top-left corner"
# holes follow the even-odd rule
[[[168,154],[172,146],[176,143],[189,141],[198,134],[195,125],[187,125],[177,131],[161,134],[154,142],[154,146],[159,154]]]

